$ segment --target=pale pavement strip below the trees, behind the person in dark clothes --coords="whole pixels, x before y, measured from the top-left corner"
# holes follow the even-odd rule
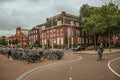
[[[111,52],[109,51],[109,49],[105,49],[103,54],[111,54],[111,53],[115,53],[115,52],[120,52],[120,49],[111,49]],[[97,51],[95,50],[85,50],[85,51],[77,51],[74,52],[75,54],[97,54]]]

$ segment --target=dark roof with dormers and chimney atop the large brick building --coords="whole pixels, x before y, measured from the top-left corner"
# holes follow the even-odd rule
[[[49,28],[51,26],[55,26],[55,25],[57,25],[57,21],[62,21],[63,22],[63,17],[64,17],[65,23],[68,23],[68,24],[70,24],[70,21],[78,22],[78,19],[79,19],[78,16],[68,14],[65,11],[63,11],[58,15],[55,15],[55,16],[50,17],[50,18],[46,18],[46,23],[37,25],[36,27],[46,26],[46,28]]]

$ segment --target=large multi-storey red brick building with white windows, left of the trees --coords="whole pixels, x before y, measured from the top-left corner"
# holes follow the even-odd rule
[[[38,34],[39,33],[39,34]],[[33,45],[38,39],[42,46],[74,46],[90,44],[92,39],[82,31],[78,16],[61,12],[47,18],[44,24],[38,25],[29,31],[29,44]]]

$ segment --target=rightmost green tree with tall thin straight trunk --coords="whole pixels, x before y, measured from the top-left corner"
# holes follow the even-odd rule
[[[111,51],[111,29],[112,28],[119,28],[119,7],[118,5],[109,2],[109,4],[105,4],[100,8],[100,15],[103,17],[102,20],[102,27],[104,27],[104,31],[108,30],[108,37],[109,37],[109,51]],[[120,29],[117,31],[119,32]],[[116,32],[116,30],[113,30]]]

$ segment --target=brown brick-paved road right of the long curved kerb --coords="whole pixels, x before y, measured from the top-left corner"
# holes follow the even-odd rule
[[[82,59],[71,60],[32,72],[24,80],[120,80],[109,68],[110,60],[120,57],[120,53],[103,55],[97,61],[97,55],[83,55]],[[120,74],[120,59],[110,64]]]

